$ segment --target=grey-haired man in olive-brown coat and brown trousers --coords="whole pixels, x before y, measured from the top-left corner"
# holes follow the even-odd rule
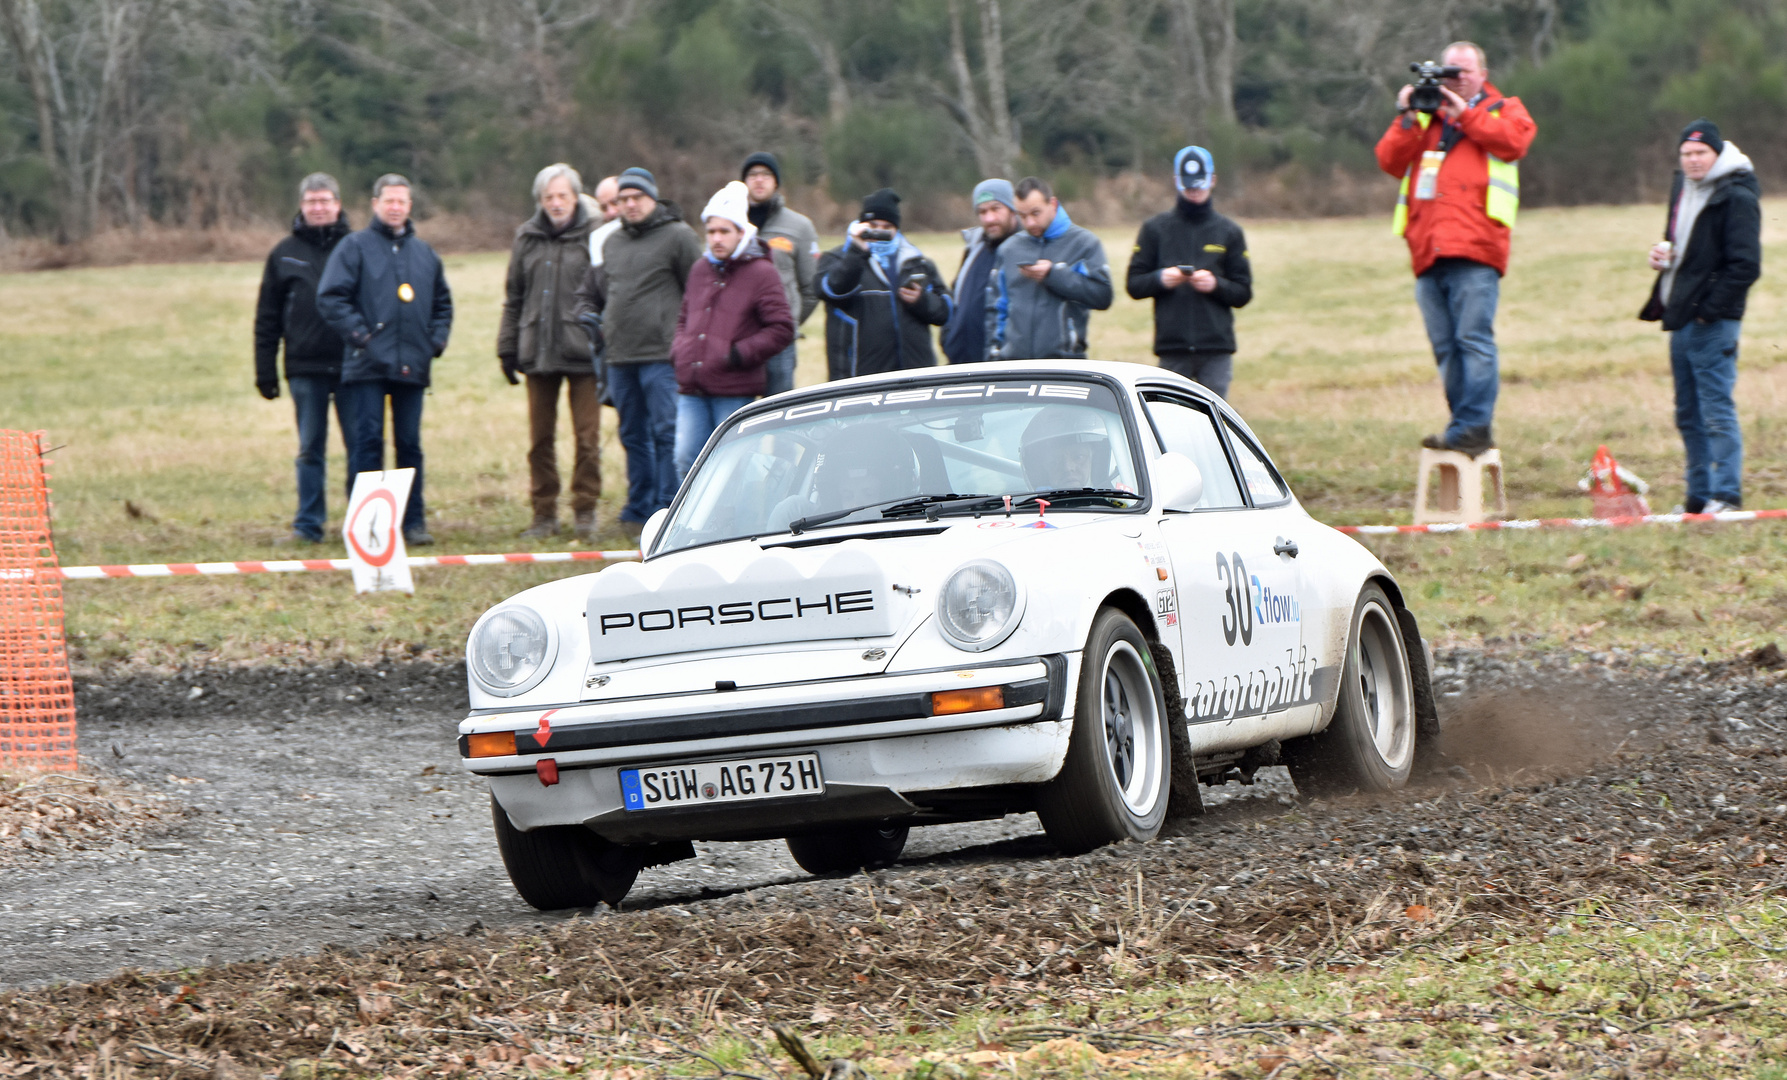
[[[602,495],[602,399],[590,359],[590,331],[574,316],[575,291],[590,272],[590,216],[583,177],[568,165],[549,165],[534,177],[540,211],[515,231],[508,295],[497,331],[497,359],[511,384],[527,375],[527,472],[534,520],[524,540],[559,531],[558,435],[559,386],[570,395],[577,454],[570,474],[570,508],[579,540],[595,538],[595,502]]]

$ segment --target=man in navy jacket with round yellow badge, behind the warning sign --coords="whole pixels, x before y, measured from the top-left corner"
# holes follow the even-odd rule
[[[345,342],[341,395],[354,426],[348,486],[357,474],[384,468],[390,399],[397,467],[416,470],[404,508],[404,540],[434,544],[422,502],[422,399],[434,358],[447,350],[452,293],[440,256],[409,224],[409,181],[386,173],[372,184],[372,224],[329,256],[316,311]]]

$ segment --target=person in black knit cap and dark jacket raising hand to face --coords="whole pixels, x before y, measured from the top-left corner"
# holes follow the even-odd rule
[[[843,250],[820,259],[818,295],[845,327],[845,375],[936,365],[931,327],[949,322],[954,300],[899,222],[899,195],[881,188],[863,198]]]

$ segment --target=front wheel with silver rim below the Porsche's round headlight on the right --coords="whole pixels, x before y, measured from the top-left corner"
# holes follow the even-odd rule
[[[1067,762],[1036,792],[1036,817],[1056,848],[1078,855],[1160,833],[1172,789],[1167,724],[1147,638],[1104,608],[1086,635]]]

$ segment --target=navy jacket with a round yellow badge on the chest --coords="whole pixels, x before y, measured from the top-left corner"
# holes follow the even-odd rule
[[[373,218],[338,243],[316,286],[316,311],[347,343],[343,383],[427,386],[452,333],[441,259],[409,222],[393,231]]]

